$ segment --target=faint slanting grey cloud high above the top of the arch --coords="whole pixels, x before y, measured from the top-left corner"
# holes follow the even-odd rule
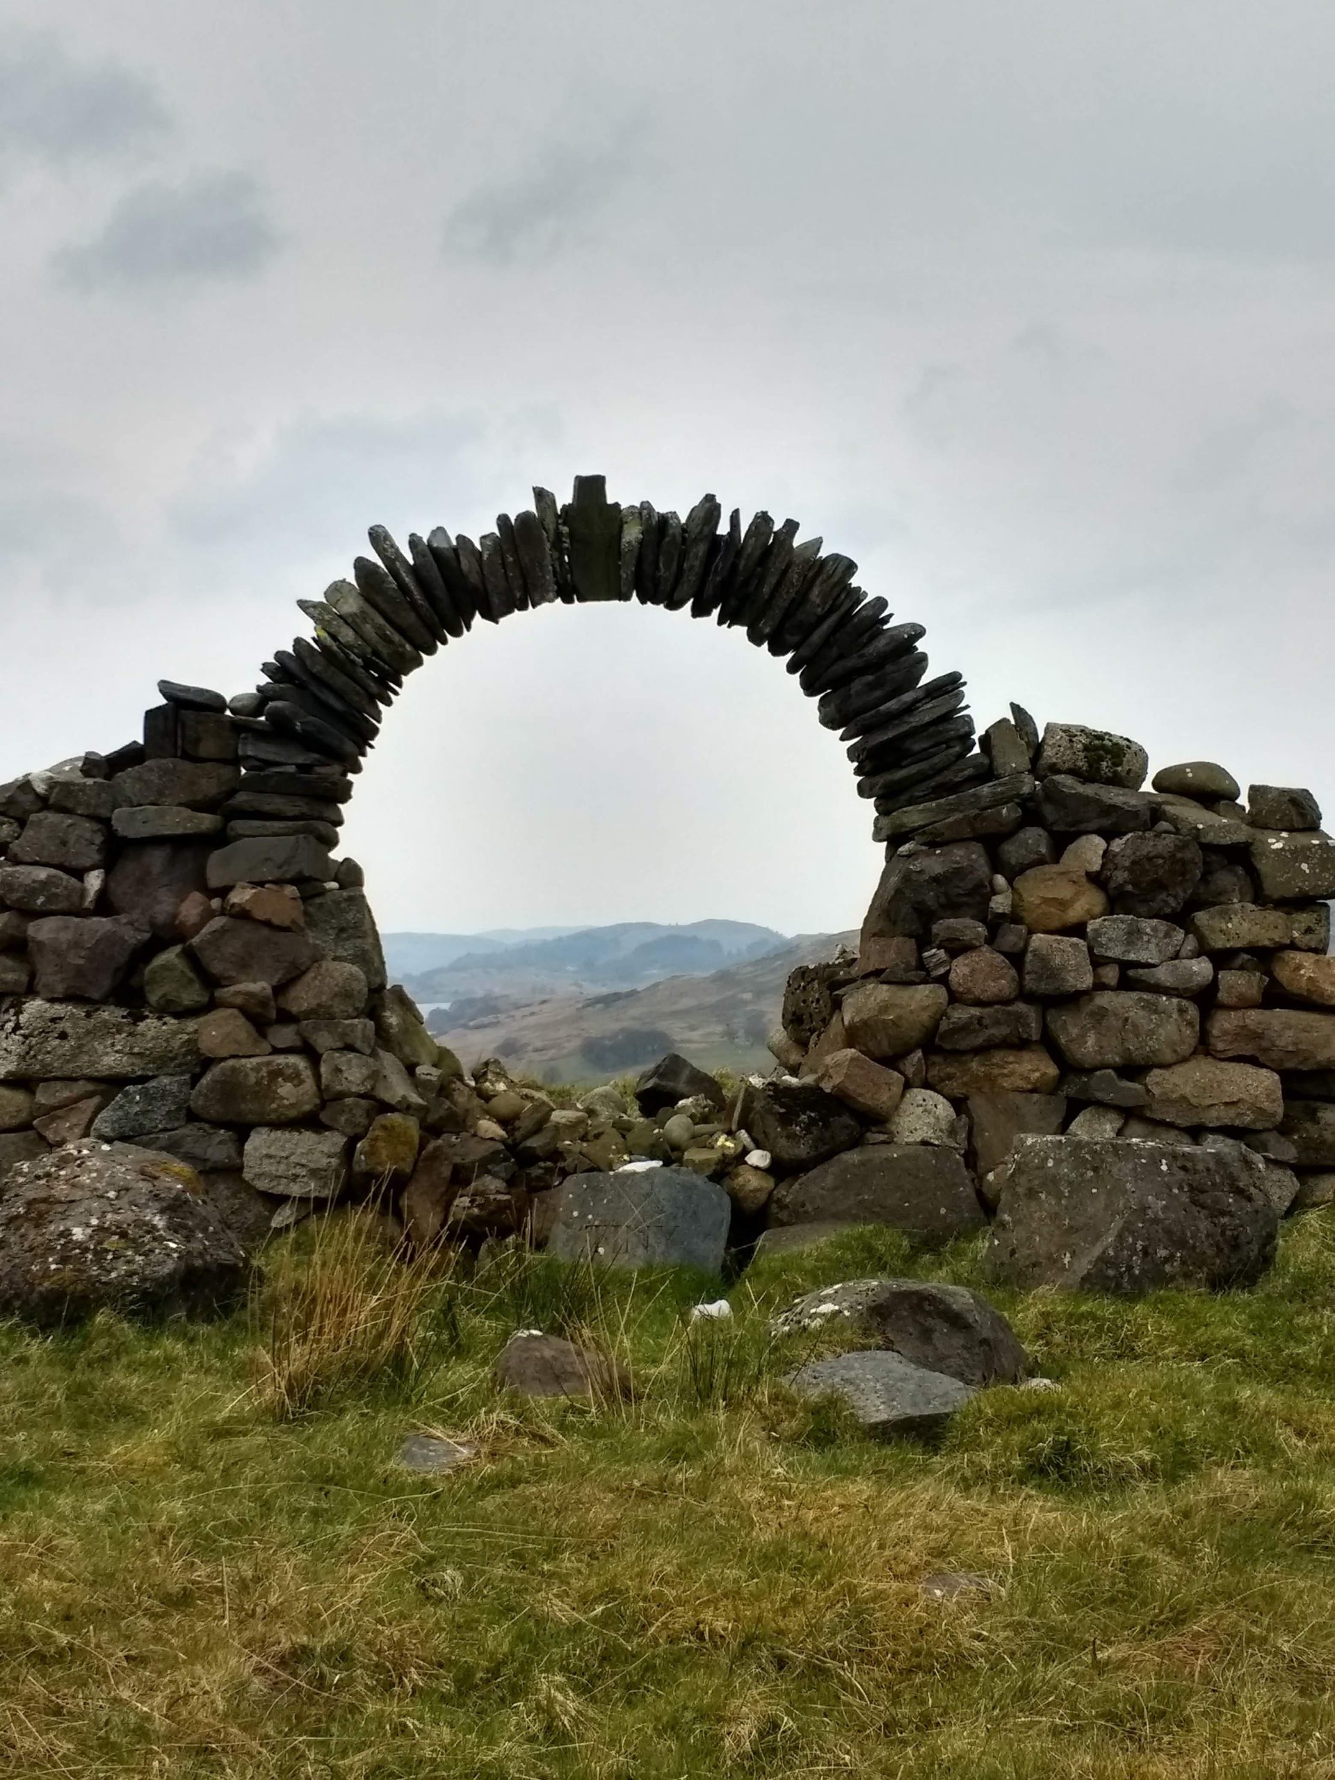
[[[514,176],[479,185],[445,219],[447,258],[534,263],[580,246],[643,166],[641,132],[623,121],[600,142],[548,142]]]

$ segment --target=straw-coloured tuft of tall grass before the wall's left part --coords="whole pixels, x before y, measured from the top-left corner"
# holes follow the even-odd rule
[[[417,1387],[457,1335],[456,1251],[395,1250],[367,1212],[320,1218],[276,1251],[249,1315],[255,1396],[281,1420],[349,1390]]]

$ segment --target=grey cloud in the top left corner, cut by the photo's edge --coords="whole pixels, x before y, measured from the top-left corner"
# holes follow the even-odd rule
[[[169,130],[157,89],[117,62],[80,62],[52,32],[0,41],[0,164],[121,155]]]

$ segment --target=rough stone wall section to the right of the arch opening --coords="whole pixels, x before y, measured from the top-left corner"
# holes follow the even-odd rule
[[[1105,1187],[1121,1145],[1203,1145],[1280,1212],[1335,1198],[1335,842],[1312,794],[1242,805],[1212,762],[1145,790],[1136,742],[1040,739],[1016,707],[984,749],[991,780],[881,817],[858,956],[789,981],[771,1048],[790,1073],[751,1093],[824,1121],[828,1159],[808,1152],[769,1221],[965,1230],[1016,1139],[1056,1134],[1098,1145]]]

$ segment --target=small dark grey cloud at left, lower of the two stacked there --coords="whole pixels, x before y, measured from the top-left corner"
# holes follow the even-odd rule
[[[53,271],[75,290],[158,290],[256,278],[281,242],[249,173],[150,180],[116,205],[89,242],[59,249]]]

